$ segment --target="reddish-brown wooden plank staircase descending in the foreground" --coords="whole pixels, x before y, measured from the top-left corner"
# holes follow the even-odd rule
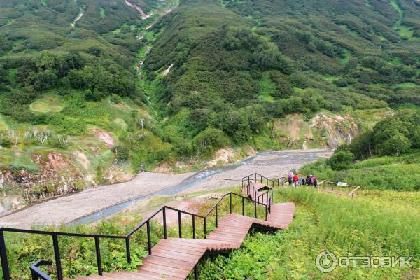
[[[218,228],[207,239],[168,238],[153,247],[152,254],[144,258],[137,272],[104,273],[104,276],[79,276],[78,280],[142,280],[142,279],[186,279],[197,262],[206,253],[227,253],[240,248],[253,225],[272,230],[287,228],[293,221],[295,204],[273,204],[267,221],[228,214],[218,222]]]

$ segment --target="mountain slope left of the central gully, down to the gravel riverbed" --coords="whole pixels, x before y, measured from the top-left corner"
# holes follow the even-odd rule
[[[135,168],[118,138],[140,131],[137,120],[148,115],[140,110],[146,97],[135,67],[148,43],[141,36],[175,4],[0,1],[0,189],[5,208],[130,179],[140,161],[153,158],[151,153],[162,146],[158,137],[144,141]]]

